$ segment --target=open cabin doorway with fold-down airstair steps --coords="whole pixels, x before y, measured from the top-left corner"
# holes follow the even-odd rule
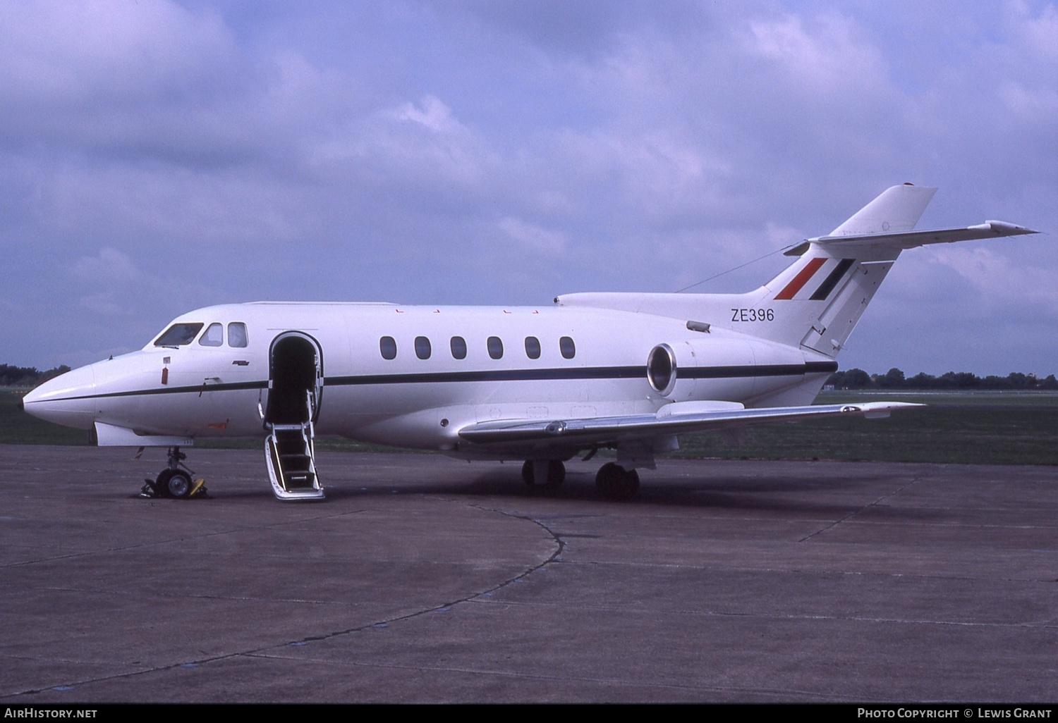
[[[311,336],[286,332],[269,351],[264,458],[280,500],[323,499],[316,475],[313,422],[323,397],[323,354]]]

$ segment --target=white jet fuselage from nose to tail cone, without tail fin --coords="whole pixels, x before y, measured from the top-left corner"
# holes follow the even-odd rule
[[[808,404],[836,367],[810,350],[722,328],[691,331],[676,318],[579,307],[257,302],[200,309],[180,322],[245,325],[247,346],[233,348],[226,337],[203,346],[204,333],[175,347],[152,341],[55,379],[29,395],[26,408],[85,428],[263,437],[270,350],[295,333],[318,350],[316,433],[471,453],[459,430],[492,420],[650,413],[705,400]],[[383,357],[383,337],[395,342],[393,358]],[[463,358],[455,357],[459,339]],[[659,344],[676,360],[671,389],[647,379]]]

